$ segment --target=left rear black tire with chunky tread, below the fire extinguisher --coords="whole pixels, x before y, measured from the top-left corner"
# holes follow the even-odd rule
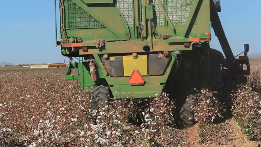
[[[100,105],[109,100],[109,87],[104,85],[94,85],[92,87],[92,107],[93,110],[98,110]]]

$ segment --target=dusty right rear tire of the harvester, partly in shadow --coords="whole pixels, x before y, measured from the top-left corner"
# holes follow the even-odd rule
[[[190,84],[184,85],[184,88],[180,91],[178,99],[180,99],[179,115],[181,119],[181,126],[184,128],[195,125],[196,121],[193,119],[194,112],[191,108],[192,99],[194,96],[193,86]]]

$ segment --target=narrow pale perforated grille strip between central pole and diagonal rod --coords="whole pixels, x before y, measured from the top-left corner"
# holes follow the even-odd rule
[[[163,0],[161,0],[163,4]],[[156,19],[154,19],[155,25],[164,25],[164,13],[161,10],[161,6],[157,0],[153,0],[153,5],[155,6],[154,9],[154,16],[156,15]]]

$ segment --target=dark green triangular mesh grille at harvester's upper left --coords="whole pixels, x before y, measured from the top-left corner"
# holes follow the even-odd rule
[[[68,0],[68,25],[69,28],[104,28],[104,25],[72,0]]]

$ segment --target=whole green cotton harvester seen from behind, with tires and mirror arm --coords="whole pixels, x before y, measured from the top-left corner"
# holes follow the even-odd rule
[[[178,96],[180,117],[191,125],[194,88],[221,93],[222,81],[244,81],[250,74],[248,44],[236,59],[217,14],[220,0],[58,1],[61,40],[56,45],[70,58],[67,79],[92,91],[97,107],[108,94],[148,98],[167,91]],[[212,35],[225,57],[210,48]]]

